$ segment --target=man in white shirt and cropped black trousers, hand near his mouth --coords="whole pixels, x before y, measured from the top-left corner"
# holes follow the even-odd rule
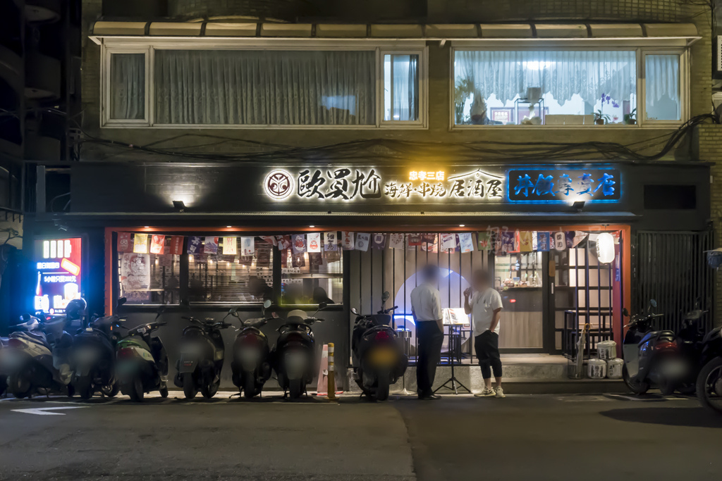
[[[499,356],[499,323],[502,301],[499,291],[491,286],[490,275],[483,270],[474,272],[474,296],[471,288],[464,291],[464,309],[472,314],[474,322],[474,350],[482,368],[484,390],[477,397],[505,397],[501,388],[501,358]],[[492,369],[495,385],[492,387]]]

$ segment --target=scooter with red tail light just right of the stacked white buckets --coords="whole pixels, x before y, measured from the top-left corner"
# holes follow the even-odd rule
[[[622,376],[635,394],[645,394],[652,385],[662,394],[671,394],[687,372],[674,332],[652,329],[653,320],[663,315],[651,314],[651,308],[656,306],[652,299],[647,312],[631,317],[625,326],[628,330],[622,344],[625,361]],[[622,313],[630,316],[626,308]]]

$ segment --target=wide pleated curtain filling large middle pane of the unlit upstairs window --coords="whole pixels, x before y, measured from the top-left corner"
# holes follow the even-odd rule
[[[373,51],[156,50],[155,122],[375,123]]]

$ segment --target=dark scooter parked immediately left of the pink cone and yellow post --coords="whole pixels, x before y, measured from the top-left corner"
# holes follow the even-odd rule
[[[316,312],[326,307],[318,304]],[[316,315],[316,312],[313,315]],[[295,400],[306,392],[306,384],[313,381],[316,372],[316,341],[311,325],[323,319],[308,316],[300,309],[288,313],[284,325],[278,328],[279,337],[271,351],[271,361],[284,397]]]

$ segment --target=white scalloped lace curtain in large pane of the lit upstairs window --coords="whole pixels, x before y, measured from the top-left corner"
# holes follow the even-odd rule
[[[456,81],[469,79],[476,92],[508,102],[526,89],[540,87],[563,105],[579,94],[595,105],[602,94],[628,100],[637,89],[636,54],[633,50],[457,50]]]

